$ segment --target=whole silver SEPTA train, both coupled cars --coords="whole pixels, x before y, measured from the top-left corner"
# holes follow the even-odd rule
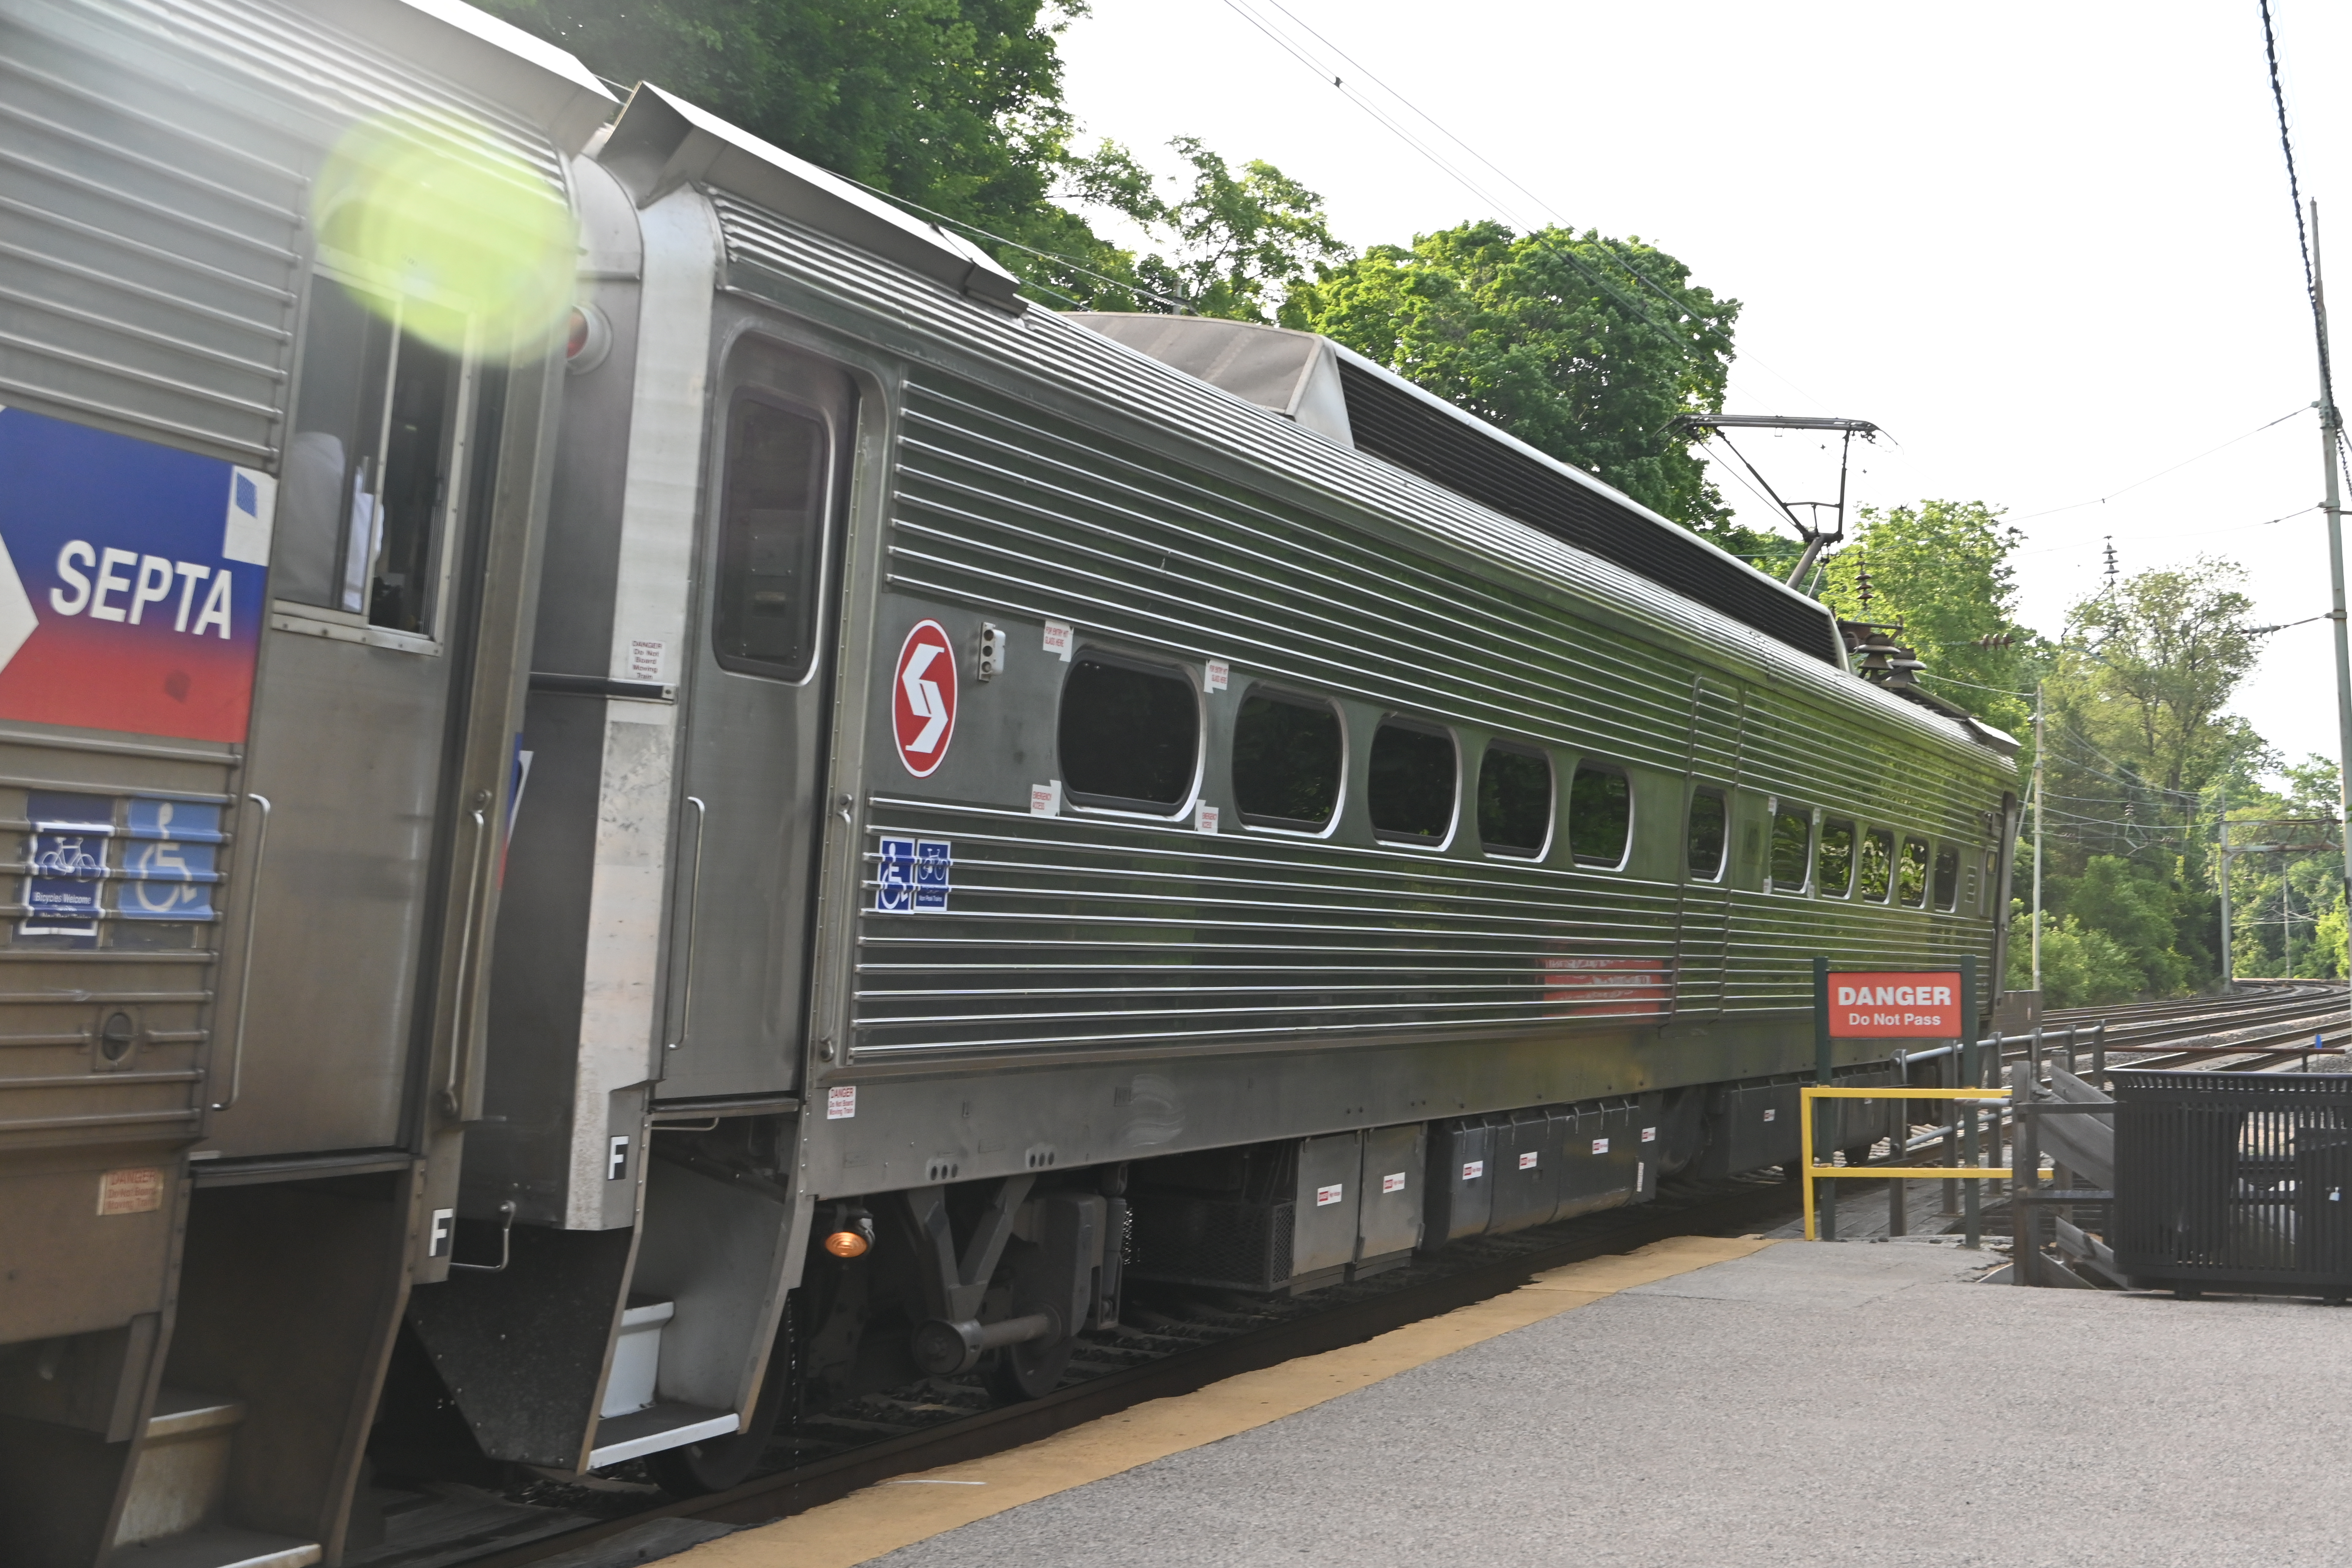
[[[1035,1396],[1792,1159],[1816,954],[1999,973],[2016,748],[1823,607],[456,0],[0,0],[0,202],[9,1561]]]

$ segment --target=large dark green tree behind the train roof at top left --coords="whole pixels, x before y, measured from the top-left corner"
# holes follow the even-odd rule
[[[1256,320],[1345,252],[1322,197],[1197,141],[1162,202],[1122,148],[1075,150],[1058,40],[1084,0],[482,0],[609,82],[654,82],[809,162],[946,214],[1044,303]],[[1112,244],[1082,207],[1169,230]],[[1077,207],[1077,209],[1075,209]],[[1195,299],[1195,294],[1200,299]]]

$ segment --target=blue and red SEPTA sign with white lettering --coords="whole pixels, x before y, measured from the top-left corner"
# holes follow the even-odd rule
[[[0,409],[0,719],[242,741],[278,482]]]

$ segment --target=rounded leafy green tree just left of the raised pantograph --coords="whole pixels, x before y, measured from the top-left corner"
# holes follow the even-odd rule
[[[1331,268],[1291,294],[1284,324],[1752,555],[1771,536],[1731,524],[1705,461],[1672,430],[1677,414],[1724,407],[1738,313],[1639,240],[1482,221]]]

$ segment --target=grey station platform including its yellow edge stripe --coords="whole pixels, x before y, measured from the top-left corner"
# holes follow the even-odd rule
[[[680,1568],[2340,1563],[2352,1312],[1675,1239]]]

